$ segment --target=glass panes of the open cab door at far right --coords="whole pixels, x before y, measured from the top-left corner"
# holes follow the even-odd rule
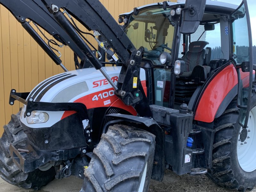
[[[233,53],[236,55],[237,64],[241,64],[243,61],[250,61],[250,44],[249,44],[249,33],[247,18],[244,4],[232,14],[233,24]],[[241,97],[240,105],[248,105],[249,95],[249,72],[242,72],[241,76]],[[238,74],[239,75],[239,74]],[[247,108],[240,108],[240,123],[244,125]]]

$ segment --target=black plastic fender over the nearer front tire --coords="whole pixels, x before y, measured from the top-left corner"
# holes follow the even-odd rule
[[[153,133],[156,136],[156,148],[154,156],[154,164],[151,174],[151,179],[162,181],[164,178],[164,165],[165,165],[165,156],[164,156],[164,130],[157,124],[154,119],[138,117],[132,115],[123,115],[123,114],[109,114],[107,117],[113,117],[113,121],[109,121],[103,129],[103,133],[107,132],[107,129],[110,125],[116,123],[127,123],[132,124],[135,127],[144,129],[150,133]]]

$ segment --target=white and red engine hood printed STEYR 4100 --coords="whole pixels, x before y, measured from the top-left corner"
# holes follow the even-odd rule
[[[103,69],[116,84],[121,67],[104,67]],[[140,81],[146,91],[146,74],[142,68],[140,69]],[[80,102],[87,109],[112,106],[123,108],[136,115],[134,108],[124,105],[115,95],[114,88],[107,79],[95,68],[78,69],[52,76],[38,84],[28,95],[28,98],[30,97],[37,102]],[[74,111],[45,111],[49,115],[49,120],[46,123],[28,124],[27,117],[24,117],[25,110],[26,106],[24,105],[20,120],[31,128],[51,127],[75,113]]]

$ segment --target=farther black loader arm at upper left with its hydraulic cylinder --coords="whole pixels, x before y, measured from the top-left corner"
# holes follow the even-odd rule
[[[57,41],[68,45],[76,55],[82,60],[87,61],[85,53],[75,44],[75,42],[68,36],[68,34],[61,28],[61,26],[53,19],[52,14],[48,12],[42,1],[40,0],[0,0],[0,4],[6,7],[12,15],[21,23],[22,27],[36,40],[36,42],[43,48],[43,50],[52,58],[57,64],[62,65],[60,58],[52,51],[48,44],[37,34],[37,32],[30,25],[34,23],[39,25]],[[27,21],[29,19],[30,21]],[[91,63],[85,63],[92,66]]]

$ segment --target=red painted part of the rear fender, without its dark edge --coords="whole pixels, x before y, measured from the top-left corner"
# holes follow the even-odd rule
[[[244,87],[249,85],[249,73],[241,70]],[[245,83],[246,82],[246,83]],[[228,65],[218,73],[204,90],[195,113],[195,120],[211,123],[220,107],[221,102],[237,84],[236,68]]]

